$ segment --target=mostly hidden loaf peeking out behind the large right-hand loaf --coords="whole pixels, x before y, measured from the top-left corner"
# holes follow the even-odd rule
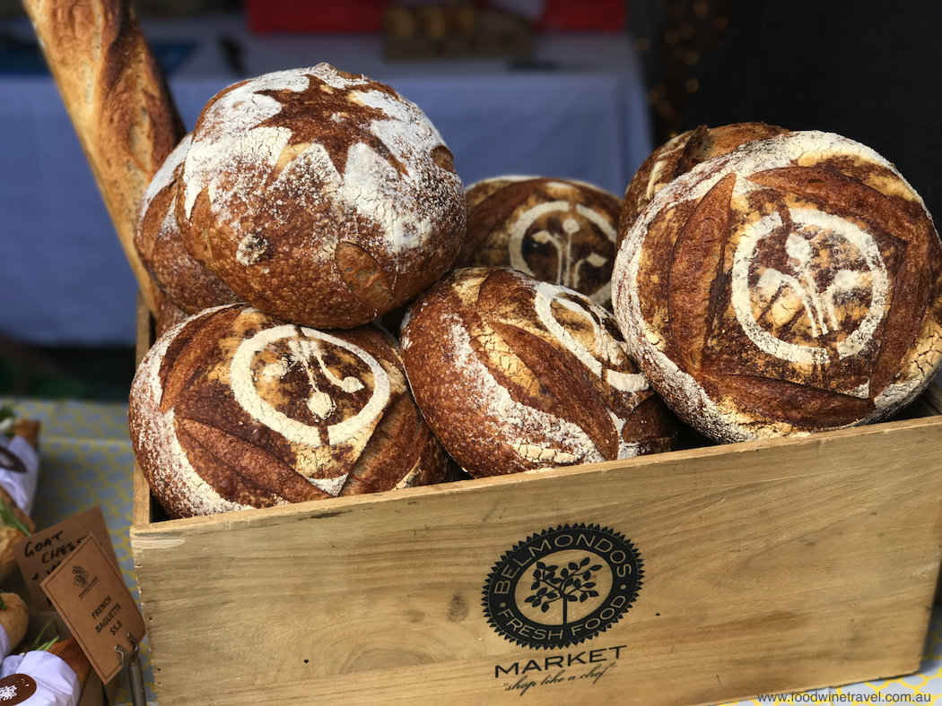
[[[686,174],[701,162],[732,152],[745,142],[786,132],[785,128],[764,122],[734,122],[712,128],[700,125],[665,142],[644,160],[625,190],[624,208],[618,222],[618,242],[622,242],[625,233],[658,191],[681,174]]]

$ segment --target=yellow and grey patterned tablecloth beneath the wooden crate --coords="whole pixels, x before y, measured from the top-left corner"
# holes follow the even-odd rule
[[[124,582],[139,600],[128,530],[134,511],[134,454],[127,431],[127,406],[89,402],[10,400],[41,431],[40,484],[33,520],[39,528],[99,505],[121,564]],[[154,676],[145,638],[141,646],[149,705],[156,705]],[[121,676],[118,706],[130,706],[127,675]],[[922,666],[898,679],[863,682],[798,694],[752,698],[726,706],[762,704],[942,704],[942,605],[934,609]]]

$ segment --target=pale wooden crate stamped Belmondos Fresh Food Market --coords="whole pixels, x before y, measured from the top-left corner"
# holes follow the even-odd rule
[[[713,704],[913,672],[940,399],[803,439],[187,520],[161,520],[137,473],[160,705]],[[530,597],[570,562],[587,598],[563,624],[563,601]]]

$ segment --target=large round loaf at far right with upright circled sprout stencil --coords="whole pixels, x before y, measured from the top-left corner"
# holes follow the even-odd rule
[[[613,308],[689,425],[744,441],[884,419],[942,361],[942,246],[868,147],[753,140],[660,190],[626,233]]]

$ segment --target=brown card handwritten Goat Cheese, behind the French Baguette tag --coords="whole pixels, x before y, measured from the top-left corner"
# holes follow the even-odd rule
[[[117,569],[118,557],[115,556],[115,549],[111,545],[102,508],[97,505],[13,545],[16,563],[20,566],[20,572],[29,590],[33,610],[52,608],[52,602],[42,591],[42,581],[56,570],[66,554],[78,547],[89,534],[94,535]]]

